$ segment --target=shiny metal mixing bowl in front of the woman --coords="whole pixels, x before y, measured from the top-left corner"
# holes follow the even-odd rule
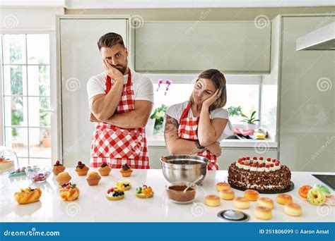
[[[203,156],[192,155],[170,155],[163,156],[167,161],[162,158],[162,171],[165,179],[169,183],[174,182],[189,182],[193,183],[201,175],[201,178],[196,184],[200,184],[207,173],[208,159]]]

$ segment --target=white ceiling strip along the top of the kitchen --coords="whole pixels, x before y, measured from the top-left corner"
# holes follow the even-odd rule
[[[276,8],[298,6],[335,6],[334,0],[12,0],[0,1],[0,6],[30,6],[64,8]]]

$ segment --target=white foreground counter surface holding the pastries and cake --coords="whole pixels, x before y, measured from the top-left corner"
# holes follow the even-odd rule
[[[91,168],[93,171],[93,168]],[[8,178],[0,176],[0,214],[2,222],[157,222],[157,221],[189,221],[189,222],[225,222],[217,217],[221,210],[234,209],[233,201],[221,200],[221,206],[209,207],[204,205],[206,194],[217,194],[216,183],[227,180],[227,171],[209,171],[199,187],[197,197],[192,204],[175,204],[170,202],[165,193],[167,181],[161,170],[134,170],[130,178],[122,178],[119,171],[113,169],[109,176],[102,177],[99,185],[89,186],[86,177],[78,176],[74,168],[66,168],[72,176],[72,183],[80,189],[80,196],[74,202],[64,202],[58,194],[58,185],[52,174],[45,183],[31,183],[25,176]],[[313,173],[315,174],[315,173]],[[326,173],[318,173],[326,174]],[[125,192],[125,197],[119,201],[109,201],[105,194],[107,189],[114,186],[117,180],[131,181],[132,188]],[[321,183],[312,173],[293,172],[292,181],[295,189],[288,192],[293,196],[293,202],[302,206],[303,214],[292,217],[283,213],[283,206],[275,204],[271,222],[334,222],[335,206],[312,206],[298,197],[300,185]],[[155,195],[151,199],[139,199],[135,196],[137,186],[146,184],[153,188]],[[28,186],[40,187],[42,197],[40,202],[19,205],[13,194],[20,188]],[[235,197],[242,196],[242,191],[234,190]],[[334,193],[333,193],[334,194]],[[261,194],[261,197],[275,199],[275,194]],[[262,222],[254,218],[255,202],[245,210],[251,222]],[[269,221],[266,221],[269,222]]]

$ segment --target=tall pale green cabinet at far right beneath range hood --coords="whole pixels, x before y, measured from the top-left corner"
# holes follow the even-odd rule
[[[283,16],[279,80],[279,158],[293,171],[334,172],[335,51],[296,51],[298,37],[334,16]]]

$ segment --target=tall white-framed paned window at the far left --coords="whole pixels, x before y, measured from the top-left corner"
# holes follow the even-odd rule
[[[49,35],[1,35],[4,144],[20,166],[50,165]]]

